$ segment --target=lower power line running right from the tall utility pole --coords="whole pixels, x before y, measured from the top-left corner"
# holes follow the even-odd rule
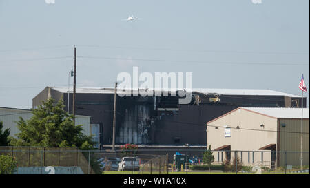
[[[110,59],[110,60],[125,60],[125,61],[159,61],[165,63],[203,63],[203,64],[230,64],[230,65],[278,65],[278,66],[309,66],[309,63],[245,63],[245,62],[224,62],[224,61],[185,61],[185,60],[167,60],[167,59],[138,59],[138,58],[121,58],[121,57],[106,57],[106,56],[78,56],[79,58],[84,59]]]

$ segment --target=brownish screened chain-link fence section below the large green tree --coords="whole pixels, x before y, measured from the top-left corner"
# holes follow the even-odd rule
[[[17,160],[16,174],[45,173],[44,167],[67,167],[63,174],[95,174],[88,152],[72,147],[0,147],[0,154]],[[31,168],[30,168],[31,167]]]

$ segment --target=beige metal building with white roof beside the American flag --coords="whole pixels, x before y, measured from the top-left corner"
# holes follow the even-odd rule
[[[207,147],[216,162],[238,156],[244,165],[274,168],[285,160],[298,166],[302,157],[309,165],[309,109],[303,109],[302,130],[301,114],[300,108],[239,107],[207,122]]]

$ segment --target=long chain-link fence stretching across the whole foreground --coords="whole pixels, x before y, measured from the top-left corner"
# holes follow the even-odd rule
[[[309,174],[309,152],[72,147],[0,147],[17,160],[14,174]]]

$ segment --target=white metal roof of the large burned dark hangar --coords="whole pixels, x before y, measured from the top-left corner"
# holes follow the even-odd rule
[[[68,92],[68,87],[51,87],[62,93]],[[70,87],[70,92],[73,89]],[[152,92],[152,90],[148,90]],[[167,90],[166,90],[167,91]],[[176,90],[170,90],[176,91]],[[120,93],[121,90],[118,90]],[[284,92],[277,92],[274,90],[249,90],[249,89],[192,89],[192,92],[200,92],[204,94],[223,94],[223,95],[252,95],[252,96],[289,96],[289,97],[300,97],[294,94],[287,94]],[[76,87],[76,93],[92,93],[92,94],[113,94],[114,88],[112,87]]]

